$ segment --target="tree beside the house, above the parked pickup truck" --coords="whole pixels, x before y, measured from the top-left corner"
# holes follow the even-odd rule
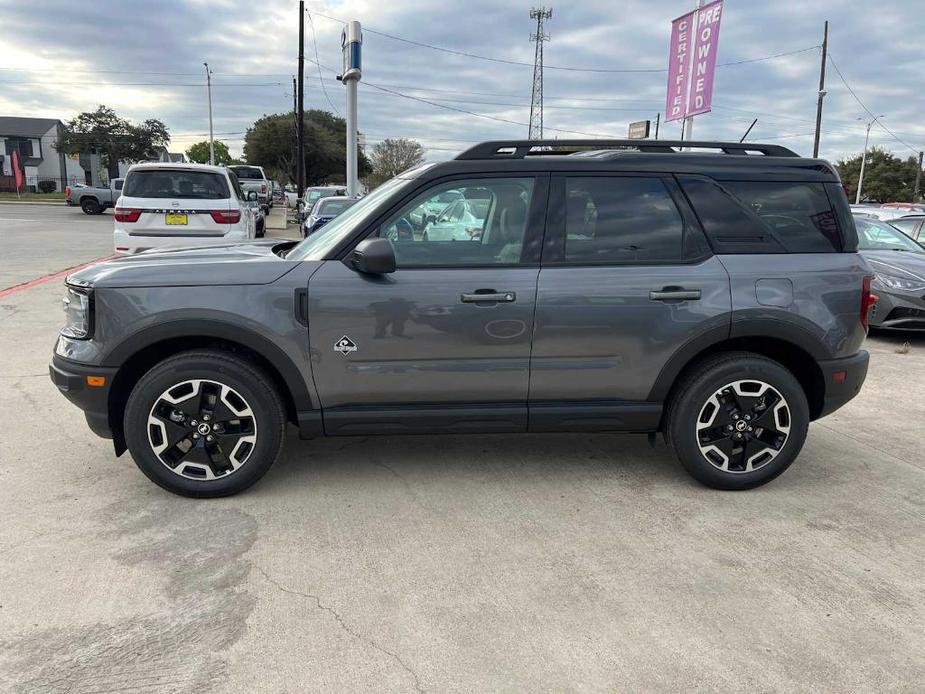
[[[155,118],[141,125],[120,118],[108,106],[78,114],[64,125],[55,149],[65,154],[95,152],[110,178],[119,176],[120,161],[144,161],[156,157],[170,143],[167,126]]]

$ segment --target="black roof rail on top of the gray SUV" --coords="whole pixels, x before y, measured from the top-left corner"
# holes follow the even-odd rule
[[[554,150],[549,148],[555,147]],[[755,153],[767,157],[798,157],[791,149],[781,145],[763,145],[753,142],[709,142],[696,140],[494,140],[483,142],[460,153],[457,159],[523,159],[527,156],[572,154],[587,148],[633,149],[639,152],[675,154],[680,148],[718,149],[723,154],[740,156]],[[534,148],[539,148],[534,151]]]

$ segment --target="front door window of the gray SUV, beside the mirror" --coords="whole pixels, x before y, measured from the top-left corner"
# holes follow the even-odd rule
[[[398,267],[518,265],[533,199],[532,178],[441,183],[379,227]]]

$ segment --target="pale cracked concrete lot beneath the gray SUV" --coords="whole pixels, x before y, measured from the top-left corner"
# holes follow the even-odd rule
[[[31,253],[2,271],[58,269]],[[51,385],[60,295],[0,299],[0,691],[921,691],[923,338],[871,338],[862,395],[752,492],[642,437],[290,435],[193,501]]]

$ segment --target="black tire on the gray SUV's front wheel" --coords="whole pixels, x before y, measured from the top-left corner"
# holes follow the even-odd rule
[[[237,469],[223,472],[220,475],[216,474],[215,479],[191,479],[189,475],[195,469],[194,464],[183,462],[176,465],[178,470],[182,467],[183,471],[175,472],[155,452],[151,436],[156,436],[156,434],[149,432],[149,415],[153,414],[153,408],[156,405],[159,406],[165,402],[162,396],[175,386],[180,386],[193,379],[203,379],[207,382],[228,386],[234,395],[243,399],[244,405],[252,413],[252,416],[241,417],[242,420],[250,420],[253,426],[255,440],[248,449],[249,452]],[[191,401],[189,407],[198,407],[192,401],[200,400],[205,392],[204,386],[200,386],[200,395],[189,398]],[[218,407],[222,406],[224,406],[223,403],[218,403]],[[217,424],[220,418],[219,410],[215,404],[212,407],[215,408]],[[126,444],[132,458],[152,482],[174,494],[206,498],[237,494],[266,474],[282,451],[286,415],[279,393],[272,385],[272,379],[260,368],[228,352],[197,350],[183,352],[162,361],[138,381],[129,396],[123,425]],[[163,429],[163,431],[166,434],[167,430]],[[190,428],[189,437],[185,440],[192,441],[191,437],[195,431],[195,427]],[[218,431],[216,428],[215,432]],[[216,439],[222,441],[220,436],[216,435]],[[234,434],[229,434],[232,443],[235,443],[233,437]],[[200,436],[196,438],[198,441],[187,452],[187,456],[208,455],[203,438]],[[193,449],[196,449],[196,453],[193,453]],[[235,448],[235,451],[237,450]],[[233,457],[234,451],[226,457],[226,462]],[[230,463],[227,464],[230,465]],[[214,470],[213,474],[215,474]]]

